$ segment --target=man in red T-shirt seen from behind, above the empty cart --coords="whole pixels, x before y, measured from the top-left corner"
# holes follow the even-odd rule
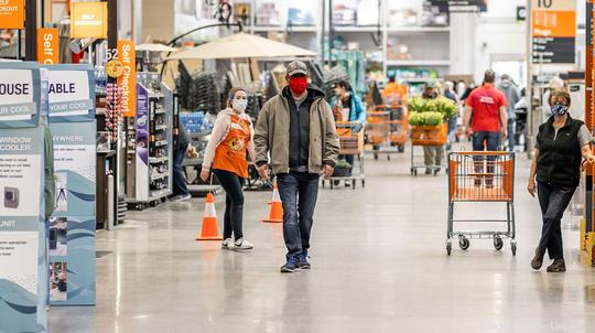
[[[494,87],[496,74],[488,69],[484,86],[473,90],[466,100],[465,129],[473,136],[473,150],[496,151],[507,136],[508,101],[500,90]]]

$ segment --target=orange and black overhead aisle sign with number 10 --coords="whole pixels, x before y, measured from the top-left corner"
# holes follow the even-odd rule
[[[534,64],[573,64],[576,0],[531,0]]]

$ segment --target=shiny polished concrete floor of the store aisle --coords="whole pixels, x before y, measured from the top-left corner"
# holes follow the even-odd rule
[[[51,332],[595,332],[595,272],[581,264],[570,214],[569,271],[529,267],[540,214],[524,191],[524,159],[517,171],[517,257],[508,241],[495,251],[490,240],[447,257],[446,176],[410,176],[409,154],[369,159],[364,190],[321,191],[313,269],[294,275],[279,272],[281,225],[260,222],[270,193],[247,193],[256,249],[245,254],[194,240],[202,200],[130,213],[98,235],[109,254],[97,260],[97,307],[51,309]],[[221,216],[220,197],[217,208]],[[494,218],[504,210],[459,212]]]

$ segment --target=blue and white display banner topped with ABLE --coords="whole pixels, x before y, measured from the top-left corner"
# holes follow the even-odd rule
[[[50,303],[94,305],[96,122],[89,65],[47,66],[55,210],[50,218]]]

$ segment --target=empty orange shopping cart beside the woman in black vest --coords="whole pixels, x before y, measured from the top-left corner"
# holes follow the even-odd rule
[[[500,151],[451,152],[448,154],[448,224],[446,253],[452,239],[458,239],[462,250],[469,248],[472,238],[493,239],[496,250],[502,249],[502,238],[510,239],[512,255],[517,254],[515,227],[515,153]],[[506,219],[455,219],[455,203],[506,203]],[[454,223],[506,223],[505,232],[455,232]]]

